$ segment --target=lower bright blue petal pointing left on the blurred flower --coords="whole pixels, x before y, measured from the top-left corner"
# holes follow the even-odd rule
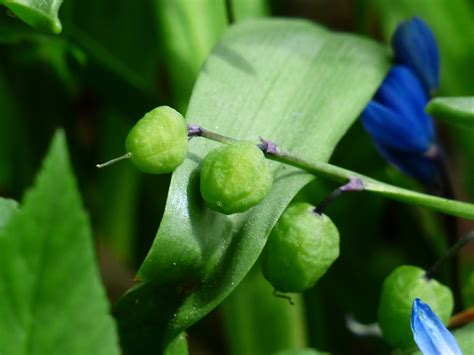
[[[369,102],[361,118],[376,144],[419,155],[432,144],[430,135],[426,134],[416,117],[402,116],[376,101]]]

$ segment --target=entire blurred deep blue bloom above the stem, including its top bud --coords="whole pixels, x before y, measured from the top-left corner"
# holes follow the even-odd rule
[[[441,149],[424,111],[439,85],[436,39],[425,22],[413,17],[399,24],[392,47],[396,64],[362,112],[362,124],[386,160],[433,192],[447,193]]]

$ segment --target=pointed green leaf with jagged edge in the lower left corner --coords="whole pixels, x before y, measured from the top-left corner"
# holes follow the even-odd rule
[[[0,231],[0,353],[119,354],[63,133]]]

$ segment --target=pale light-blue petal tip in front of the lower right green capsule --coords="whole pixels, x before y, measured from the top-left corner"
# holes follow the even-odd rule
[[[413,301],[411,330],[423,355],[462,355],[454,336],[430,306],[419,298]]]

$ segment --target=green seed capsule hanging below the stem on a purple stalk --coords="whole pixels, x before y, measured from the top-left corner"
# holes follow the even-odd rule
[[[273,227],[263,250],[263,275],[282,292],[302,292],[339,256],[339,232],[314,206],[292,203]]]

